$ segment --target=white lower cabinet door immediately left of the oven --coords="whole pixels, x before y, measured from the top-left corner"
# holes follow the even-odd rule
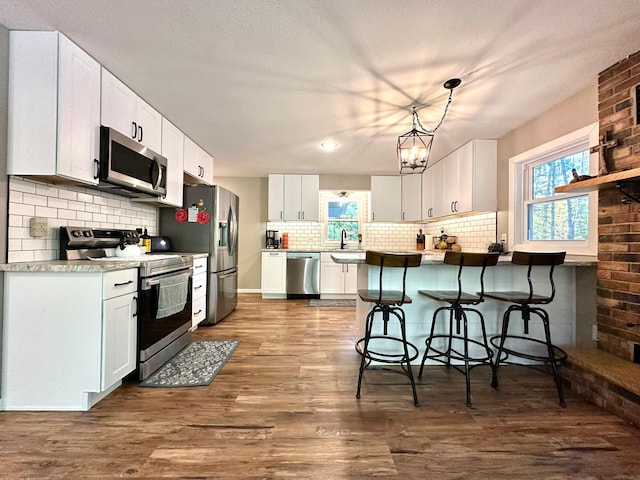
[[[136,295],[130,293],[103,302],[102,390],[136,368]]]

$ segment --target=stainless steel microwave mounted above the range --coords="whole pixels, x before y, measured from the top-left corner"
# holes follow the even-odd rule
[[[167,193],[167,159],[113,128],[100,127],[99,184],[127,197]]]

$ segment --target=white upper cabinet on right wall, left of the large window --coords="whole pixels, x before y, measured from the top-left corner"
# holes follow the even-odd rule
[[[497,209],[495,140],[472,140],[429,167],[425,175],[424,182],[433,187],[426,197],[433,206],[424,205],[426,218]]]

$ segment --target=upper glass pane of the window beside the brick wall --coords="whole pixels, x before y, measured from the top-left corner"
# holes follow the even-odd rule
[[[573,180],[571,169],[578,175],[589,174],[589,151],[574,153],[551,162],[536,165],[531,175],[531,198],[545,198],[554,195],[554,189],[567,185]]]

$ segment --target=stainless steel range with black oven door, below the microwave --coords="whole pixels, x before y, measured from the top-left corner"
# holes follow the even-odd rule
[[[105,230],[87,227],[60,227],[60,258],[95,262],[133,262],[139,269],[138,284],[138,368],[137,377],[144,380],[191,341],[191,280],[193,258],[180,254],[145,254],[137,257],[116,256],[118,249],[135,246],[139,234],[135,230]],[[164,291],[177,286],[186,299],[184,307],[165,307]]]

